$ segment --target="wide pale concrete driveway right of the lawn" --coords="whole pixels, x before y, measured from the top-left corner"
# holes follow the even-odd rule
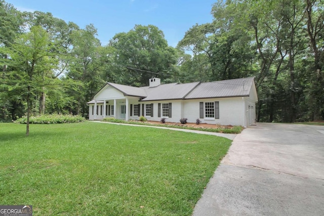
[[[245,129],[193,215],[324,215],[324,126],[258,123]]]

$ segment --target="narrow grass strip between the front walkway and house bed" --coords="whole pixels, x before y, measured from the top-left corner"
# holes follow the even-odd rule
[[[159,127],[173,127],[173,128],[181,128],[181,129],[191,129],[193,131],[206,131],[206,132],[224,133],[224,134],[239,134],[244,129],[244,127],[242,127],[242,126],[233,126],[232,128],[226,128],[226,127],[200,128],[200,127],[184,127],[184,126],[163,124],[163,123],[152,125],[150,123],[145,123],[145,122],[140,122],[140,121],[125,121],[125,120],[122,120],[122,119],[115,119],[115,118],[111,118],[111,117],[104,118],[102,121],[114,122],[114,123],[124,123],[124,124],[139,124],[139,125],[159,126]]]

